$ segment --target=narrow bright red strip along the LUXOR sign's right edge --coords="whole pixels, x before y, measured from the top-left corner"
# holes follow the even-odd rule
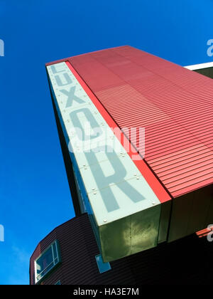
[[[65,63],[67,64],[68,68],[70,68],[70,70],[72,71],[72,73],[75,75],[75,78],[77,78],[77,80],[79,81],[80,85],[82,85],[82,88],[87,93],[87,95],[89,96],[89,98],[92,100],[92,103],[94,103],[94,105],[97,107],[97,110],[99,110],[99,112],[102,115],[102,117],[104,117],[104,120],[107,122],[107,124],[109,125],[109,127],[111,127],[112,130],[116,129],[116,130],[114,130],[114,134],[116,135],[116,137],[118,137],[118,139],[121,142],[121,144],[123,146],[126,145],[126,144],[128,144],[129,140],[126,138],[126,136],[124,135],[124,133],[120,130],[120,128],[116,125],[116,122],[114,122],[114,120],[109,115],[109,113],[107,112],[107,110],[99,102],[98,98],[94,95],[94,93],[92,93],[92,90],[90,90],[90,88],[87,86],[87,84],[84,82],[84,80],[82,80],[82,78],[77,73],[77,71],[75,70],[75,68],[72,67],[72,65],[71,65],[71,63],[69,61],[66,61]],[[124,143],[121,140],[123,140]],[[129,142],[129,144],[130,144],[130,142]],[[139,172],[141,172],[141,174],[143,175],[143,177],[146,179],[146,182],[148,182],[148,184],[151,187],[151,189],[153,189],[153,192],[158,197],[159,201],[161,203],[163,203],[165,201],[171,200],[171,197],[168,194],[168,192],[166,192],[166,190],[160,184],[160,182],[155,177],[155,175],[153,174],[153,172],[151,172],[151,169],[148,168],[148,166],[146,165],[146,163],[143,161],[143,159],[141,159],[141,156],[133,149],[133,147],[131,146],[131,144],[129,146],[129,149],[130,150],[128,150],[127,152],[129,154],[129,157],[131,157],[131,159],[132,159],[133,155],[134,156],[138,155],[138,159],[132,159],[132,160],[133,160],[134,164],[136,164],[136,167],[138,168]]]

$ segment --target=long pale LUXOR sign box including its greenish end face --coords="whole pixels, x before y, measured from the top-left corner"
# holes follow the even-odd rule
[[[66,63],[48,66],[48,74],[70,157],[92,207],[103,260],[155,246],[157,196]]]

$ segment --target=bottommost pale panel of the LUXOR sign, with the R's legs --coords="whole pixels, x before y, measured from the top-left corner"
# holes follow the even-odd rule
[[[152,196],[152,190],[146,189],[144,192],[144,189],[146,189],[146,181],[140,176],[111,184],[111,186],[103,187],[95,192],[89,192],[88,197],[97,224],[102,226],[158,205],[158,199]],[[110,212],[103,204],[103,199],[108,202],[107,207],[111,208]]]

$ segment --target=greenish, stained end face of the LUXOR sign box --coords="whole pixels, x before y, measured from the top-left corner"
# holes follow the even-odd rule
[[[104,261],[144,251],[158,243],[160,205],[99,227]]]

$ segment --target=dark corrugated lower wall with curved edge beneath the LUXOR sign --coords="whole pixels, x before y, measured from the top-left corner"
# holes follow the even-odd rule
[[[72,284],[207,284],[212,283],[213,242],[192,235],[172,243],[111,262],[111,270],[100,274],[99,254],[87,214],[54,229],[31,256],[30,283],[34,284],[34,260],[58,239],[62,263],[43,280],[45,285]]]

